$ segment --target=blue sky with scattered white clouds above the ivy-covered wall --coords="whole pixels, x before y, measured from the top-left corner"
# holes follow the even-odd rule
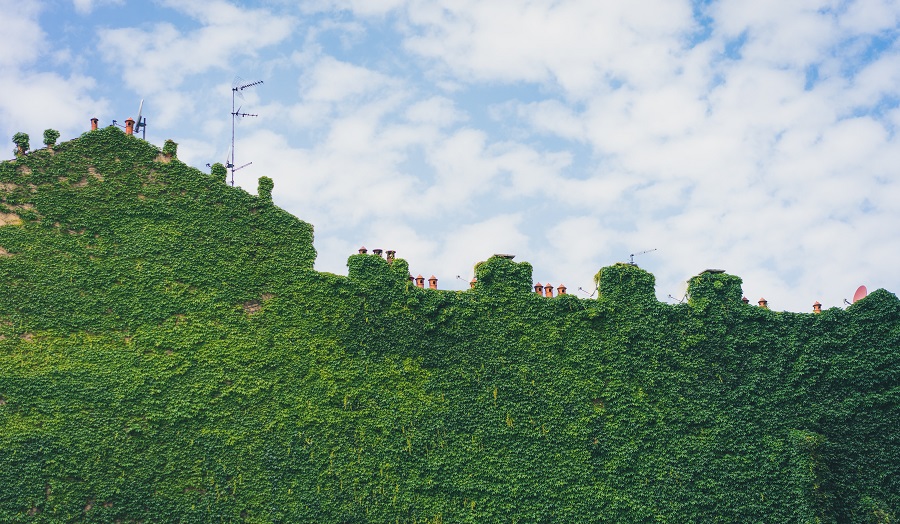
[[[0,134],[136,117],[275,182],[316,269],[466,289],[495,253],[587,298],[632,260],[779,311],[900,292],[900,1],[0,0]]]

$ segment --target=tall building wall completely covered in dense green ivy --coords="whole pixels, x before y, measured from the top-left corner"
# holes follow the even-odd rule
[[[0,164],[0,521],[896,522],[900,301],[541,297],[353,255],[115,128]],[[261,183],[261,187],[264,184]],[[275,188],[277,191],[277,188]]]

